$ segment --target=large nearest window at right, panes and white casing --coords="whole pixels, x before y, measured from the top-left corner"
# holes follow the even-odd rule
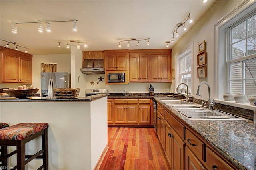
[[[215,24],[214,96],[256,96],[256,2],[242,1]],[[243,106],[240,106],[243,107]]]

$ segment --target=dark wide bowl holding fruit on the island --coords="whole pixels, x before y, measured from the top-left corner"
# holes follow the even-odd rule
[[[8,90],[8,89],[4,89],[3,91],[5,93],[7,93],[8,95],[10,95],[11,97],[16,97],[16,98],[20,98],[20,99],[25,99],[28,98],[34,94],[36,94],[36,92],[38,92],[39,89],[22,89],[22,90]]]

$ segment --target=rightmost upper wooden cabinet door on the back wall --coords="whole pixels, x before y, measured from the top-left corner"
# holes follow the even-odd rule
[[[171,80],[171,62],[170,55],[164,54],[160,55],[160,81],[170,81]]]

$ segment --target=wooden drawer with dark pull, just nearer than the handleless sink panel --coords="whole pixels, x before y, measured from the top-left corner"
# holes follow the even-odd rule
[[[186,145],[194,152],[198,159],[206,162],[206,145],[199,138],[197,138],[192,132],[186,129]]]

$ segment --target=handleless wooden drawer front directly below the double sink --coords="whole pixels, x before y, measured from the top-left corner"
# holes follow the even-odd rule
[[[181,138],[184,138],[185,127],[167,111],[165,113],[165,119],[170,125],[172,125],[172,128],[178,133],[178,135]]]

